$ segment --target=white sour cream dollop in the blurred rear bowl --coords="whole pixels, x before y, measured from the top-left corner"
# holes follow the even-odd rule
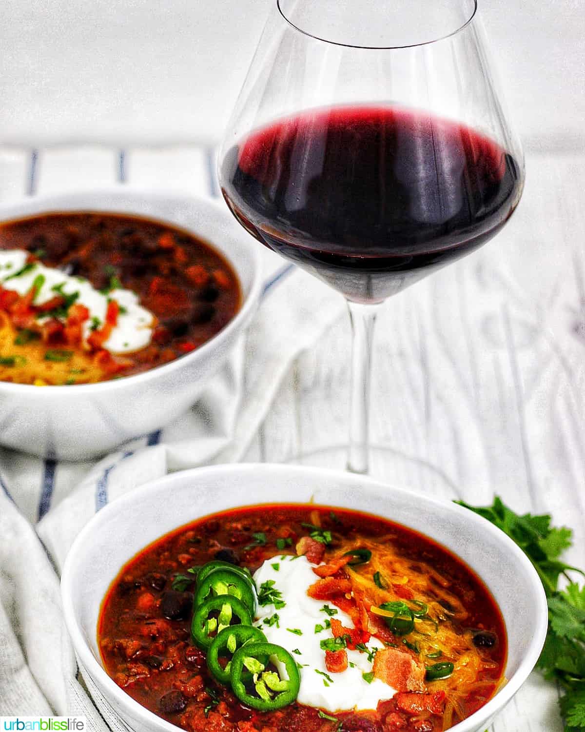
[[[78,293],[75,302],[85,305],[89,310],[89,318],[83,323],[82,329],[84,342],[92,330],[104,324],[107,301],[116,300],[120,305],[118,321],[102,344],[103,348],[113,354],[129,354],[140,351],[151,342],[154,315],[139,305],[134,292],[116,288],[103,294],[83,277],[66,275],[60,269],[47,267],[40,262],[26,267],[27,257],[28,252],[24,250],[0,250],[0,283],[5,289],[25,295],[35,281],[42,282],[34,297],[34,305],[43,305],[59,293]]]

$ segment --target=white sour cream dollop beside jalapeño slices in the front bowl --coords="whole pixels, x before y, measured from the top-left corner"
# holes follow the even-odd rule
[[[325,651],[320,648],[320,642],[333,638],[331,629],[325,627],[326,621],[331,620],[323,610],[325,605],[337,611],[333,617],[344,627],[354,626],[347,613],[306,594],[318,579],[313,567],[317,565],[311,564],[304,556],[275,556],[265,561],[254,574],[256,586],[261,593],[264,583],[273,582],[271,589],[280,593],[277,597],[284,602],[284,607],[259,605],[254,624],[263,631],[268,643],[287,649],[301,665],[299,703],[327,709],[328,712],[376,709],[379,701],[392,698],[396,690],[380,679],[368,683],[363,678],[364,673],[371,673],[372,667],[367,653],[348,650],[348,667],[341,673],[328,673],[325,667]],[[274,620],[275,614],[277,621]],[[366,646],[374,651],[382,649],[384,644],[371,638]]]

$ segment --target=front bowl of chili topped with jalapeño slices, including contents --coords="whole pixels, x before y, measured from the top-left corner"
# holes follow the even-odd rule
[[[408,594],[401,575],[421,567],[427,594]],[[309,597],[303,572],[317,580]],[[453,578],[457,590],[445,584]],[[363,608],[351,616],[354,629],[339,621],[358,592],[380,597],[368,610],[378,628],[369,641],[355,635]],[[299,466],[198,468],[133,490],[75,539],[61,593],[90,687],[130,727],[151,732],[483,732],[532,671],[548,623],[532,564],[483,518],[366,477]],[[293,602],[295,593],[303,597]],[[310,619],[289,624],[287,613],[306,602],[317,607],[314,631]],[[445,641],[454,654],[443,643],[449,616],[459,618]],[[380,638],[386,647],[372,649]],[[312,668],[308,644],[323,655],[322,669]],[[396,678],[396,657],[423,668],[418,692],[399,690],[361,712],[343,706],[358,682],[367,695],[385,674]],[[480,667],[469,679],[474,658]],[[357,680],[335,690],[343,673]]]

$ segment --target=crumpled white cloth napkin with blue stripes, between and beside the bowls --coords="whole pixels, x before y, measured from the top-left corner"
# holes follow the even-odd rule
[[[86,715],[124,730],[80,679],[61,616],[58,574],[84,524],[167,471],[241,460],[295,356],[343,316],[339,295],[297,269],[266,282],[245,343],[188,414],[99,463],[0,455],[0,715]]]

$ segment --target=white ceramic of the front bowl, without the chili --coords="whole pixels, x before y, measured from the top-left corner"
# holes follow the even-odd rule
[[[506,621],[508,682],[453,732],[483,732],[527,679],[543,647],[548,612],[532,564],[502,531],[468,509],[354,474],[299,466],[215,466],[172,474],[118,498],[80,532],[61,578],[64,615],[80,667],[109,706],[135,730],[176,732],[174,725],[122,691],[102,668],[96,637],[99,607],[122,565],[184,523],[275,501],[314,501],[389,518],[437,540],[480,575]]]

